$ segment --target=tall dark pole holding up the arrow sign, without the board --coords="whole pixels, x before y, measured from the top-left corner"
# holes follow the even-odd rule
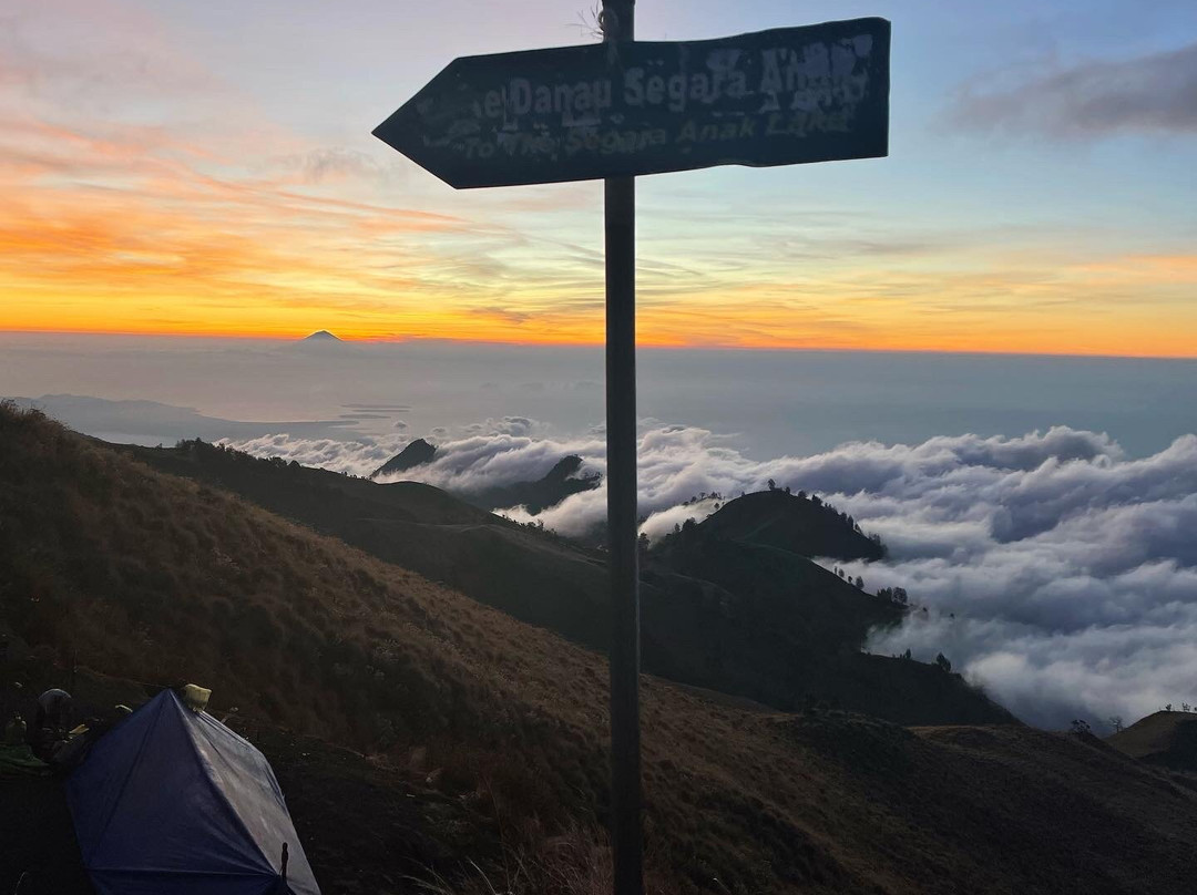
[[[636,39],[636,0],[603,0],[609,53]],[[636,178],[604,181],[607,543],[610,556],[610,839],[615,895],[642,895],[640,593],[636,482]]]

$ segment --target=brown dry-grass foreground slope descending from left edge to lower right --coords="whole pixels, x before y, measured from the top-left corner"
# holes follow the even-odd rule
[[[579,836],[601,857],[594,653],[10,410],[0,516],[0,610],[31,644],[109,674],[202,681],[247,714],[403,762],[423,754],[444,769],[442,791],[494,805],[529,865],[559,867],[560,842]],[[778,716],[654,678],[643,716],[657,891],[1191,883],[1178,844],[1197,835],[1193,793],[1076,737]],[[345,847],[345,861],[363,859]],[[554,873],[524,890],[588,890]]]

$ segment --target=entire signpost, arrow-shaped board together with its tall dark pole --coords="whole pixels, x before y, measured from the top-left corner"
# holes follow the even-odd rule
[[[634,2],[603,0],[602,44],[457,59],[373,132],[458,189],[606,179],[616,895],[643,891],[634,178],[876,158],[889,142],[887,20],[637,42]]]

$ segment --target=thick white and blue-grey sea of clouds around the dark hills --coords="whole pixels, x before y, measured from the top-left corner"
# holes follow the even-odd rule
[[[604,471],[601,430],[552,434],[525,418],[438,430],[432,463],[403,477],[469,492],[539,479],[577,453]],[[286,434],[232,446],[366,475],[409,440]],[[718,503],[695,495],[766,487],[816,493],[889,547],[885,562],[841,564],[871,591],[901,585],[918,609],[876,633],[874,652],[943,652],[1025,720],[1107,727],[1165,704],[1197,704],[1197,436],[1129,458],[1105,434],[1056,427],[1021,437],[853,442],[807,457],[753,459],[734,439],[643,421],[643,530],[658,537]],[[531,518],[522,507],[508,516]],[[606,515],[602,488],[539,517],[577,535]],[[831,565],[828,562],[828,565]],[[923,609],[925,608],[925,611]]]

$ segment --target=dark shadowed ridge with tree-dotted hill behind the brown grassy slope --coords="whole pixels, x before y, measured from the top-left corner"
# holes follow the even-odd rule
[[[121,450],[156,469],[235,491],[517,619],[607,649],[608,585],[601,553],[529,531],[414,482],[377,485],[202,443]],[[794,524],[783,524],[791,517],[803,525],[821,520],[834,535],[834,543],[824,547],[849,553],[875,548],[833,511],[783,492],[733,501],[717,517],[743,518],[735,510],[741,504],[760,504],[770,530],[792,534]],[[699,525],[699,532],[715,544],[710,556],[697,552],[703,560],[697,565],[667,564],[672,571],[666,574],[645,576],[646,670],[786,710],[816,700],[898,723],[1011,720],[960,678],[931,674],[918,663],[891,666],[862,656],[868,629],[900,615],[888,601],[862,593],[804,556],[725,541],[722,528],[713,535],[707,528]]]

